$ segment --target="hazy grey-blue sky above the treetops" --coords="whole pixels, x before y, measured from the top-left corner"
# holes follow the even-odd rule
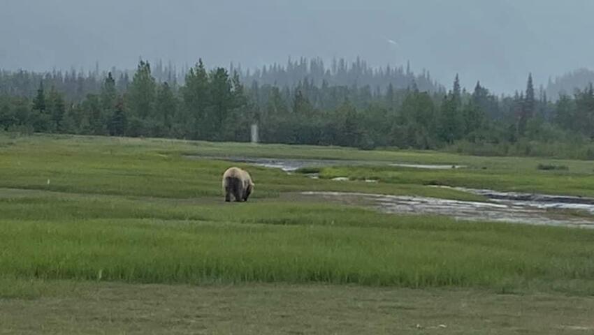
[[[592,0],[0,0],[0,68],[361,56],[513,91],[594,68]],[[329,64],[329,63],[328,63]]]

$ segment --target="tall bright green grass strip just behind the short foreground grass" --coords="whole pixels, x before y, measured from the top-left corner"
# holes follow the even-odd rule
[[[489,225],[431,232],[128,219],[1,227],[3,275],[24,278],[542,288],[594,275],[584,238],[536,229],[501,234]],[[581,289],[594,294],[591,284]]]

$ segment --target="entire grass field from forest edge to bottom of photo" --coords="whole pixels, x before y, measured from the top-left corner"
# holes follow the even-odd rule
[[[316,180],[241,165],[252,173],[256,188],[254,198],[236,204],[222,201],[220,176],[230,163],[188,159],[187,154],[348,157],[468,168],[328,167],[321,169],[323,178]],[[538,170],[539,164],[563,165],[567,170]],[[377,177],[380,182],[328,180],[335,176]],[[162,322],[169,319],[157,325],[129,311],[128,318],[138,322],[138,327],[129,329],[124,327],[123,316],[114,316],[108,305],[114,299],[131,305],[136,301],[133,306],[138,313],[154,313],[143,304],[157,304],[168,297],[163,304],[170,311],[180,311],[170,319],[179,319],[175,325],[181,333],[191,332],[187,322],[203,322],[208,329],[198,329],[205,334],[242,333],[238,327],[246,321],[248,309],[268,313],[268,323],[261,328],[249,319],[249,332],[254,334],[260,334],[259,329],[268,334],[360,333],[356,329],[361,327],[339,326],[344,325],[343,318],[349,318],[341,315],[349,313],[354,315],[349,322],[377,322],[377,333],[435,330],[419,320],[435,321],[430,322],[432,327],[448,325],[439,329],[443,334],[467,334],[465,330],[472,333],[480,327],[493,329],[492,334],[514,334],[518,329],[532,334],[546,334],[539,332],[543,329],[579,332],[594,327],[593,314],[575,313],[565,319],[570,320],[568,324],[549,314],[556,313],[554,306],[573,306],[570,301],[593,309],[592,230],[379,214],[358,206],[305,201],[294,192],[356,191],[480,201],[477,195],[427,185],[593,195],[593,177],[591,162],[585,161],[0,135],[0,322],[9,325],[9,332],[46,329],[63,333],[77,332],[80,327],[88,327],[89,333],[142,332],[147,327],[159,332],[167,329]],[[150,288],[164,293],[151,293],[145,299],[139,292]],[[226,302],[215,294],[222,291],[228,295]],[[108,297],[97,293],[97,299],[85,305],[94,292],[108,292]],[[224,306],[231,304],[233,295],[243,302],[230,311]],[[473,309],[475,318],[460,314],[462,305],[446,302],[469,295],[478,308]],[[529,313],[517,295],[533,301]],[[327,301],[314,306],[312,299],[317,296]],[[363,296],[375,298],[357,304]],[[218,312],[204,319],[182,313],[190,297],[205,299],[201,304],[212,303]],[[275,298],[268,301],[266,297]],[[412,310],[430,315],[419,319],[416,312],[398,308],[400,297],[409,299]],[[432,299],[449,304],[451,313],[431,306]],[[332,320],[322,320],[319,314],[325,310],[321,306],[331,306],[332,301],[340,306],[331,308],[334,314],[328,318]],[[405,323],[386,318],[384,304]],[[363,313],[358,309],[361,306],[374,312]],[[287,308],[290,316],[270,316],[277,308]],[[530,317],[514,318],[511,311],[515,310]],[[103,322],[115,321],[102,328],[93,311]],[[45,313],[54,322],[39,320],[29,327],[18,318],[28,313]],[[62,313],[73,316],[61,318]],[[488,313],[503,314],[491,318],[494,323],[477,316]],[[217,323],[217,318],[224,320]],[[290,327],[284,327],[279,318],[287,318]],[[546,322],[539,323],[537,318],[546,318]],[[414,327],[416,323],[421,328]],[[545,327],[553,323],[556,328]]]

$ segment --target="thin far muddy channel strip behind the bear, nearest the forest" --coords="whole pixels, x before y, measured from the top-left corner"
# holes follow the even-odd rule
[[[216,159],[219,161],[231,161],[238,163],[247,163],[262,166],[264,168],[277,168],[285,172],[294,172],[300,168],[323,168],[327,166],[344,165],[386,165],[400,168],[418,168],[430,170],[448,170],[465,168],[464,165],[440,165],[440,164],[412,164],[412,163],[393,163],[391,161],[353,161],[353,160],[334,160],[334,159],[295,159],[295,158],[254,158],[242,156],[186,156],[193,159]]]

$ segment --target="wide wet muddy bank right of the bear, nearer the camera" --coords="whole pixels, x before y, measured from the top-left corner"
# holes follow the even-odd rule
[[[471,202],[403,195],[341,192],[303,192],[302,195],[345,204],[366,204],[391,214],[428,214],[459,220],[528,223],[594,228],[594,217],[551,212],[532,204]]]

